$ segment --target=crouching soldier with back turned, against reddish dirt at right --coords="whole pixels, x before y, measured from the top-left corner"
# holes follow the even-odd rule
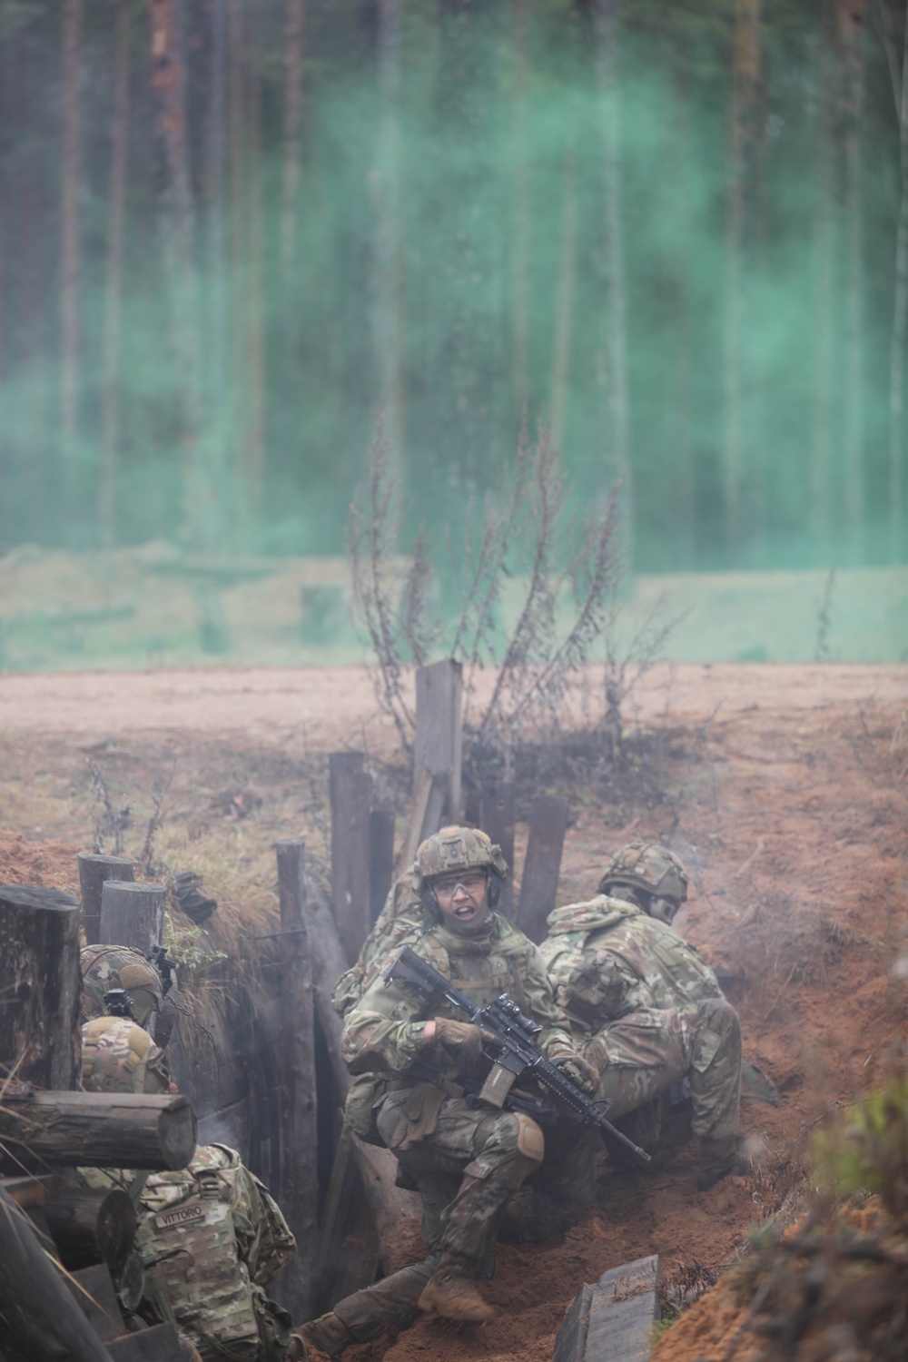
[[[713,971],[670,925],[686,892],[678,857],[630,843],[613,857],[598,898],[549,915],[540,949],[611,1120],[658,1111],[653,1099],[687,1077],[701,1141],[697,1186],[707,1190],[743,1170],[741,1023]]]

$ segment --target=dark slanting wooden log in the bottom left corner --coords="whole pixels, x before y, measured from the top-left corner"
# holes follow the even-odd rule
[[[109,1362],[25,1211],[0,1184],[0,1350],[7,1362]]]

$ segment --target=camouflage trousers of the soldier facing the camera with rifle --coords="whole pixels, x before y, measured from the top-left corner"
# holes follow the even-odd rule
[[[378,1133],[419,1190],[429,1252],[460,1253],[482,1265],[505,1201],[542,1162],[542,1130],[525,1115],[445,1098],[425,1122],[430,1128],[414,1139],[402,1120],[412,1091],[388,1094]]]

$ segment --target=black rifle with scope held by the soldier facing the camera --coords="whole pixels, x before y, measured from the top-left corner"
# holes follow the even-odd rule
[[[494,1041],[485,1042],[482,1047],[482,1053],[491,1061],[491,1071],[478,1094],[482,1102],[497,1107],[505,1106],[515,1080],[520,1075],[527,1075],[554,1098],[555,1105],[568,1118],[580,1121],[583,1125],[595,1125],[603,1137],[610,1136],[632,1150],[644,1163],[649,1163],[649,1155],[645,1150],[617,1130],[611,1121],[606,1120],[599,1106],[566,1073],[546,1060],[536,1046],[536,1036],[542,1027],[538,1022],[524,1016],[506,993],[485,1007],[476,1007],[466,993],[456,989],[449,979],[445,979],[444,974],[438,974],[434,966],[421,959],[408,945],[403,948],[385,974],[385,983],[392,981],[411,983],[426,994],[437,993],[452,1007],[466,1012],[474,1026],[494,1036]]]

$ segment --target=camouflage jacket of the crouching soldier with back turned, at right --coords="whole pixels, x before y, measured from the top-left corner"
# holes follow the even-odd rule
[[[583,1030],[638,1008],[686,1008],[723,996],[716,975],[682,936],[604,893],[550,913],[539,949],[557,1002]]]

